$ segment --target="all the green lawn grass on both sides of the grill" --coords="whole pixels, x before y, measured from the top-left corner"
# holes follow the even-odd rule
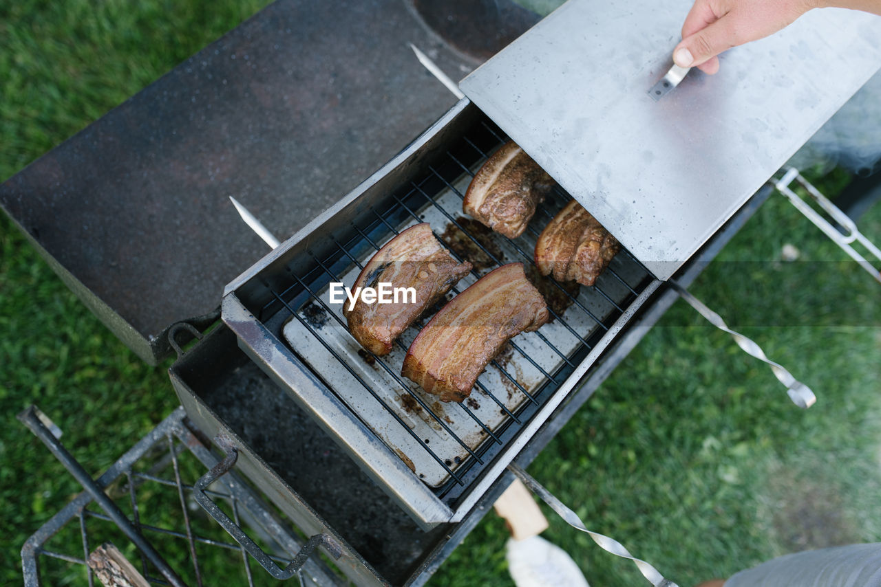
[[[5,4],[0,178],[263,4]],[[834,193],[848,178],[818,180]],[[861,224],[881,239],[881,207]],[[785,243],[801,260],[780,261]],[[775,195],[692,291],[811,385],[818,404],[793,407],[766,365],[680,302],[530,473],[683,587],[804,547],[881,539],[881,289]],[[79,490],[14,415],[37,403],[98,473],[176,406],[166,367],[140,363],[0,218],[0,583],[19,583],[21,544]],[[546,513],[546,536],[594,585],[644,584]],[[506,539],[487,515],[430,584],[511,584]]]

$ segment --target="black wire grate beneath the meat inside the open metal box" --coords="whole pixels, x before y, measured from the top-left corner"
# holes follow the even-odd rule
[[[419,457],[427,457],[428,461],[437,467],[437,473],[444,476],[444,480],[438,484],[433,485],[430,482],[428,484],[433,487],[436,495],[448,503],[455,503],[456,499],[463,495],[470,481],[476,479],[494,454],[515,437],[517,430],[522,428],[525,422],[529,422],[530,416],[544,405],[544,401],[552,396],[553,391],[581,363],[589,350],[596,345],[596,341],[621,316],[624,308],[630,305],[652,281],[648,270],[625,249],[618,253],[611,266],[597,279],[593,287],[581,287],[577,292],[573,292],[558,282],[547,280],[546,287],[552,288],[554,294],[563,300],[561,308],[555,309],[552,304],[549,305],[552,325],[556,328],[545,326],[536,333],[530,333],[535,337],[535,342],[531,344],[527,338],[524,338],[524,334],[515,337],[508,343],[514,358],[507,364],[503,364],[504,362],[497,358],[487,367],[487,371],[494,371],[502,383],[507,382],[508,390],[514,390],[520,401],[512,404],[500,399],[485,380],[482,380],[485,379],[484,376],[478,378],[476,389],[481,392],[480,397],[492,401],[492,404],[498,408],[498,415],[501,416],[493,422],[487,422],[485,417],[478,415],[479,405],[474,407],[477,402],[466,401],[461,404],[449,403],[440,406],[418,388],[414,389],[416,386],[399,374],[399,363],[395,364],[374,356],[360,349],[357,343],[354,345],[359,350],[355,355],[342,348],[338,342],[330,340],[328,336],[330,327],[345,333],[347,328],[340,312],[331,308],[322,299],[322,290],[327,288],[329,282],[351,284],[352,279],[347,281],[346,276],[352,273],[357,275],[366,260],[373,256],[389,238],[412,224],[428,221],[429,216],[434,219],[431,222],[434,236],[445,242],[458,260],[463,260],[463,255],[446,242],[447,239],[438,230],[438,219],[446,222],[448,229],[455,228],[461,231],[464,238],[468,239],[469,246],[475,252],[485,255],[490,261],[486,264],[487,267],[472,270],[470,277],[466,277],[466,280],[470,280],[469,283],[506,262],[522,261],[524,268],[535,267],[529,245],[530,239],[534,244],[544,225],[571,200],[571,196],[561,188],[555,188],[544,204],[538,207],[539,213],[529,223],[527,232],[519,238],[510,239],[498,233],[492,233],[489,237],[478,235],[465,225],[468,221],[461,213],[463,186],[467,186],[467,182],[480,165],[483,165],[492,150],[505,140],[506,137],[500,129],[495,128],[491,122],[480,121],[469,136],[463,136],[450,150],[437,154],[427,165],[426,173],[421,180],[411,181],[398,193],[390,194],[388,202],[382,207],[370,207],[363,211],[353,223],[350,234],[324,235],[328,239],[329,246],[323,247],[321,251],[317,250],[318,246],[307,249],[309,262],[303,264],[298,271],[287,268],[289,281],[282,288],[270,288],[270,301],[255,312],[257,318],[270,328],[270,332],[276,334],[279,339],[287,338],[294,352],[312,368],[315,375],[322,378],[340,400],[352,407],[361,422],[373,429],[392,451],[404,459],[404,462],[408,462],[408,459],[416,460],[412,447],[415,446],[417,450],[422,451]],[[496,246],[499,247],[498,250]],[[505,253],[510,254],[512,258],[506,258]],[[464,289],[463,283],[466,280],[451,291],[458,294]],[[322,320],[329,322],[330,327],[326,323],[316,323],[312,319],[315,314],[320,314]],[[409,329],[408,332],[417,332],[428,318],[430,317],[423,317],[414,325],[415,328]],[[285,325],[289,321],[295,323],[299,328],[297,333],[300,334],[285,337]],[[305,344],[300,342],[303,338],[311,338],[309,344],[317,341],[320,346],[311,348],[298,346]],[[401,338],[405,339],[405,336]],[[560,341],[564,341],[565,344],[561,344]],[[553,356],[553,366],[548,359],[543,360],[535,356],[535,344],[538,343]],[[401,357],[408,347],[409,342],[401,339],[396,341],[396,350],[402,351]],[[326,365],[315,358],[316,351],[327,355],[329,362],[332,363],[331,366],[339,371],[337,382],[342,380],[341,378],[356,382],[355,385],[359,386],[358,392],[363,395],[363,390],[366,390],[381,408],[381,414],[390,415],[390,420],[382,416],[384,422],[377,422],[375,412],[374,416],[371,416],[369,413],[365,414],[359,405],[352,405],[352,397],[347,399],[341,393],[340,385],[333,385]],[[461,450],[463,459],[446,458],[448,455],[436,448],[437,443],[433,446],[429,438],[418,433],[414,429],[413,420],[402,413],[400,406],[389,400],[388,393],[381,389],[382,385],[377,385],[375,380],[367,380],[363,367],[359,364],[363,361],[379,371],[381,377],[390,385],[396,385],[398,392],[401,393],[400,400],[403,402],[405,395],[408,398],[406,401],[411,403],[427,425],[432,426],[439,433],[442,431],[448,445],[455,444],[457,450]],[[511,368],[512,363],[515,364],[515,368]],[[526,385],[522,377],[523,370],[534,372],[537,377],[540,376],[540,383]],[[478,395],[477,391],[472,395]],[[485,411],[483,410],[482,413],[485,414]],[[473,422],[472,425],[478,430],[476,439],[473,435],[463,437],[465,435],[462,433],[462,426],[450,420],[450,415],[455,412],[458,412],[458,416],[463,419]],[[452,415],[452,417],[457,416]],[[408,445],[411,448],[404,450],[403,456],[400,443],[396,445],[389,442],[389,435],[382,433],[382,430],[388,430],[391,422],[395,422],[395,434],[409,438]],[[410,465],[414,472],[424,477],[412,463]]]

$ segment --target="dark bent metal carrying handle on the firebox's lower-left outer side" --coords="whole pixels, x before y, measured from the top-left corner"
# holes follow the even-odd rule
[[[315,551],[315,547],[325,547],[328,554],[334,559],[340,557],[340,554],[342,554],[342,548],[334,539],[331,539],[327,534],[315,534],[300,548],[300,552],[293,557],[293,560],[284,569],[281,569],[276,562],[272,560],[270,555],[266,554],[261,547],[258,547],[254,540],[248,538],[248,535],[241,529],[241,527],[236,524],[233,519],[227,516],[226,512],[221,510],[218,504],[214,503],[211,500],[211,497],[205,493],[205,489],[208,488],[211,483],[217,481],[226,473],[229,473],[233,466],[235,466],[235,461],[239,459],[239,451],[226,441],[224,437],[215,438],[215,444],[218,444],[218,446],[224,449],[226,455],[223,460],[211,468],[211,471],[205,473],[199,481],[196,481],[196,485],[193,486],[193,496],[196,498],[196,503],[201,505],[204,510],[208,512],[208,515],[213,517],[219,525],[223,526],[223,529],[226,530],[226,532],[229,532],[229,535],[232,536],[236,542],[241,544],[241,547],[247,550],[248,554],[253,556],[255,561],[259,562],[263,569],[266,569],[266,571],[274,578],[285,581],[285,579],[290,579],[292,576],[297,575],[300,572],[300,569],[306,563],[309,556]]]

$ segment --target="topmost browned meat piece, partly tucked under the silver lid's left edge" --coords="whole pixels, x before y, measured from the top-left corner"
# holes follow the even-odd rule
[[[516,238],[553,186],[552,177],[508,141],[475,174],[462,209],[493,231]]]

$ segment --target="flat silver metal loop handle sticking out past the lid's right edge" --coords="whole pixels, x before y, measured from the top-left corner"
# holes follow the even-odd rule
[[[824,209],[829,216],[832,216],[833,220],[837,222],[841,228],[847,231],[847,233],[839,231],[823,216],[820,216],[817,210],[811,208],[810,204],[804,202],[802,198],[800,198],[798,194],[789,187],[789,184],[793,181],[798,182],[798,184],[811,195],[811,198],[819,204],[820,208]],[[816,187],[811,185],[810,181],[805,180],[795,167],[788,167],[786,172],[783,173],[781,179],[774,183],[774,187],[776,187],[781,194],[785,195],[789,202],[792,203],[792,205],[795,206],[796,209],[808,220],[815,224],[818,229],[823,231],[827,237],[831,238],[836,245],[840,246],[842,251],[848,253],[851,259],[859,263],[860,267],[868,271],[877,282],[881,283],[881,272],[879,272],[869,260],[863,257],[862,254],[857,253],[856,249],[851,246],[851,243],[858,242],[862,246],[865,246],[877,260],[881,260],[881,249],[875,246],[869,238],[866,238],[865,235],[856,228],[856,224],[850,219],[850,216],[842,212],[835,204],[830,202],[825,195],[821,194]]]

